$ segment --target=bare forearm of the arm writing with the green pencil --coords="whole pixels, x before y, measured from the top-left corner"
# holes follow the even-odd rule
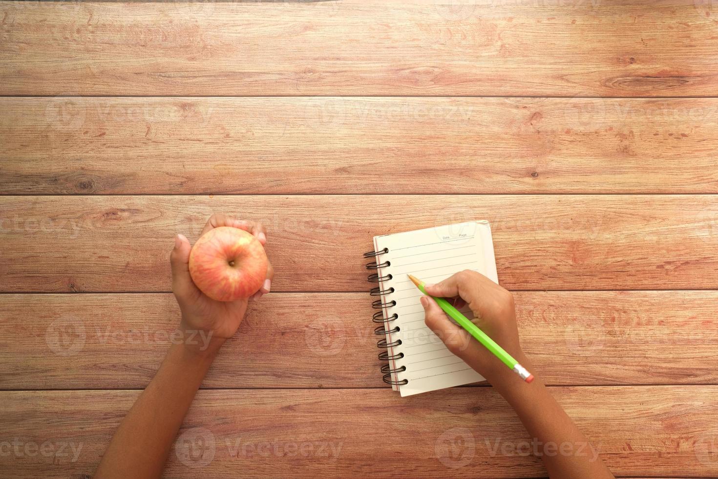
[[[533,372],[528,359],[518,361]],[[551,478],[613,478],[587,437],[556,402],[541,378],[521,381],[505,368],[490,379],[534,438]]]

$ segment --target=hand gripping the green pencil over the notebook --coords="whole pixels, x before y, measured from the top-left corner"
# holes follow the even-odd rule
[[[457,298],[457,304],[454,304],[456,307],[461,307],[463,302],[468,304],[477,318],[474,320],[475,324],[523,364],[513,294],[508,290],[486,276],[470,270],[454,274],[440,283],[425,285],[424,289],[434,297]],[[464,328],[449,320],[434,299],[422,297],[421,304],[424,306],[426,326],[434,331],[449,351],[462,358],[492,383],[507,375],[513,375],[505,364]]]

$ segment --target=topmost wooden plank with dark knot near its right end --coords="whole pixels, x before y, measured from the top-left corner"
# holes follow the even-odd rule
[[[0,94],[571,97],[718,90],[711,2],[463,3],[2,2]]]

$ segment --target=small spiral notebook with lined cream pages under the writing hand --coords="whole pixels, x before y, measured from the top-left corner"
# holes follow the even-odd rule
[[[378,284],[370,294],[378,297],[374,330],[383,338],[379,354],[383,380],[411,396],[437,389],[483,381],[479,373],[449,352],[441,340],[424,325],[421,292],[407,274],[427,283],[436,283],[458,271],[471,269],[498,283],[491,228],[488,221],[472,221],[374,237],[373,258],[366,265],[376,271],[369,282]],[[462,308],[467,318],[474,316]]]

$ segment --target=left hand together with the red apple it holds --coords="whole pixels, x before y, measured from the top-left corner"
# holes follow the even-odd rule
[[[182,310],[180,330],[204,331],[221,345],[239,327],[248,299],[269,292],[274,270],[264,252],[261,223],[214,214],[194,248],[183,235],[169,256],[172,292]]]

